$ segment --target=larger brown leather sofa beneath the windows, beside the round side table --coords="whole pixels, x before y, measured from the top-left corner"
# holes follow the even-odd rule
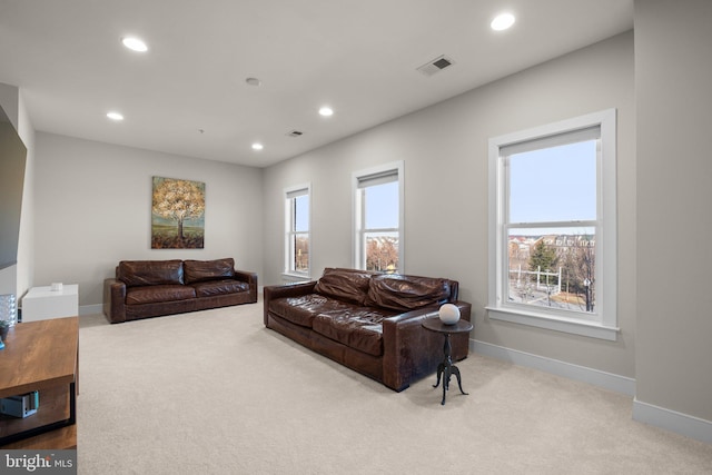
[[[443,362],[444,336],[422,327],[441,305],[457,300],[444,278],[327,268],[319,280],[264,289],[265,326],[400,392]],[[451,337],[453,360],[467,357],[468,334]]]

